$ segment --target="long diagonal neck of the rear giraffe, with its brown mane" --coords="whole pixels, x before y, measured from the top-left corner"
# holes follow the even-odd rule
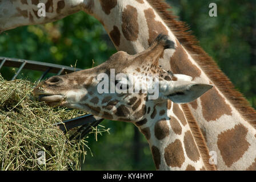
[[[255,167],[255,111],[234,90],[215,62],[197,46],[194,37],[185,32],[183,24],[167,12],[169,6],[161,0],[111,2],[107,9],[102,8],[102,3],[95,2],[92,15],[102,22],[119,51],[141,52],[159,33],[169,35],[176,43],[176,50],[165,51],[160,59],[162,68],[190,75],[197,82],[215,85],[189,104],[189,109],[209,151],[217,154],[217,168],[244,170]]]

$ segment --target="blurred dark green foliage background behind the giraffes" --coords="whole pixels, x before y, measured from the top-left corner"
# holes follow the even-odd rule
[[[256,1],[167,1],[179,20],[187,22],[203,49],[256,107]],[[209,16],[209,4],[218,16]],[[91,68],[115,51],[101,23],[80,12],[58,22],[26,26],[0,35],[0,56]],[[17,69],[1,69],[8,80]],[[18,78],[34,81],[40,72],[23,71]],[[49,75],[50,76],[50,75]],[[145,137],[131,123],[103,121],[110,134],[87,139],[84,170],[154,170]]]

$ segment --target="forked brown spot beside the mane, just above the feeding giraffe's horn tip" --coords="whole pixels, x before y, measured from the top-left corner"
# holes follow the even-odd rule
[[[155,38],[159,34],[168,35],[168,31],[162,22],[155,20],[154,10],[149,8],[144,10],[144,14],[147,21],[147,27],[149,28],[149,39],[147,40],[149,45],[154,42]]]

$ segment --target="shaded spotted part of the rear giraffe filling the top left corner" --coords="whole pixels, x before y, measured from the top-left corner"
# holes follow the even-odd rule
[[[82,0],[0,1],[0,34],[19,26],[54,22],[81,10]],[[39,3],[45,5],[45,16],[38,16]]]

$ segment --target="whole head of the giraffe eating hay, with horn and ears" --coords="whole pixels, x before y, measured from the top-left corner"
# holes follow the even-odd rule
[[[159,35],[141,53],[119,51],[97,67],[50,77],[33,92],[51,106],[86,110],[117,121],[139,121],[148,105],[166,100],[187,103],[212,87],[161,69],[159,57],[167,48],[174,48],[174,42]]]

